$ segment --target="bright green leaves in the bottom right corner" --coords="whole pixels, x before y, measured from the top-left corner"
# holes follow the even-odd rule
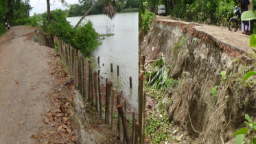
[[[244,121],[244,123],[250,128],[251,130],[248,130],[248,128],[241,128],[240,130],[237,130],[233,136],[236,136],[235,138],[235,144],[242,144],[244,143],[244,136],[248,136],[248,141],[246,143],[248,144],[254,144],[256,143],[255,131],[256,131],[256,123],[253,122],[251,117],[247,114],[245,114],[245,119],[248,121]]]

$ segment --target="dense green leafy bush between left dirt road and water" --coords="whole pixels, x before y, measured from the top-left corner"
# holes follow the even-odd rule
[[[91,21],[73,29],[66,20],[65,13],[62,12],[62,10],[56,10],[51,14],[49,24],[46,19],[43,18],[43,29],[47,34],[57,36],[60,40],[80,50],[84,56],[89,56],[91,51],[97,48],[97,45],[100,45],[97,41],[98,34],[95,32],[95,29],[93,29]]]

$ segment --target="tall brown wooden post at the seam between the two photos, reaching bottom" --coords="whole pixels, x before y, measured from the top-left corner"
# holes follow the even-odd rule
[[[139,142],[141,142],[142,125],[142,106],[143,106],[143,75],[139,75]]]

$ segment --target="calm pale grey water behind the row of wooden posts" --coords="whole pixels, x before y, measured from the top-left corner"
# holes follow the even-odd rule
[[[71,25],[75,25],[81,16],[67,18]],[[132,107],[138,107],[138,12],[116,14],[110,20],[104,14],[86,16],[82,22],[91,21],[97,33],[113,33],[101,40],[102,45],[93,51],[93,69],[100,69],[100,75],[104,77],[101,84],[106,84],[106,78],[113,82],[116,91],[124,91],[124,97]],[[108,26],[106,26],[108,25]],[[100,56],[100,65],[97,57]],[[113,63],[113,73],[110,72],[110,63]],[[117,77],[117,65],[119,65],[119,77]],[[132,77],[130,88],[129,77]]]

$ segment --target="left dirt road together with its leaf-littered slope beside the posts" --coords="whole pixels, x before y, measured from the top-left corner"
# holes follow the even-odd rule
[[[0,38],[0,144],[118,143],[35,31],[12,27]]]

